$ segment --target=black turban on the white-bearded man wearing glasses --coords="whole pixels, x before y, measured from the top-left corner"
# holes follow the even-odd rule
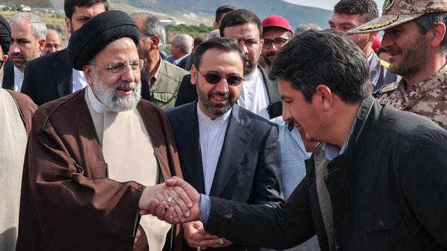
[[[68,62],[82,71],[96,53],[124,37],[132,38],[138,45],[140,34],[131,17],[119,10],[102,12],[74,32],[67,47]]]

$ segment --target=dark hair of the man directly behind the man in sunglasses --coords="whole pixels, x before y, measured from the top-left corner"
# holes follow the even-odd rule
[[[259,38],[262,38],[261,20],[259,20],[259,17],[256,14],[250,12],[250,10],[245,9],[233,10],[232,12],[229,12],[228,14],[223,16],[223,19],[219,26],[220,35],[225,36],[225,34],[223,33],[223,29],[225,29],[226,27],[245,25],[246,23],[252,23],[256,25],[259,30]]]

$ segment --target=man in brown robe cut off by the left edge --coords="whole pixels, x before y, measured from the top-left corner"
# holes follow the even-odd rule
[[[3,65],[8,60],[11,45],[11,28],[0,16],[0,83]],[[31,117],[36,105],[21,93],[0,87],[0,247],[15,250],[19,226],[20,189]]]

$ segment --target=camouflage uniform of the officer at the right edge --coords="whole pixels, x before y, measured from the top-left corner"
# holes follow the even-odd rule
[[[414,112],[447,130],[447,65],[414,86],[406,88],[402,79],[382,87],[375,95],[382,104]]]

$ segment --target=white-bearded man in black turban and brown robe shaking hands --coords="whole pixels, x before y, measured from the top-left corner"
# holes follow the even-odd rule
[[[140,100],[138,35],[112,10],[70,38],[69,64],[88,86],[34,115],[17,250],[161,251],[171,225],[138,212],[153,198],[188,211],[182,189],[158,184],[182,174],[166,115]]]

